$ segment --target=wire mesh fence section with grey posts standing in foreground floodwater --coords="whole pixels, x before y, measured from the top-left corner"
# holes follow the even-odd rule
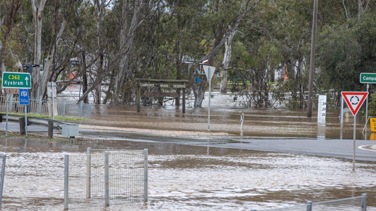
[[[147,149],[65,155],[64,209],[147,200]]]

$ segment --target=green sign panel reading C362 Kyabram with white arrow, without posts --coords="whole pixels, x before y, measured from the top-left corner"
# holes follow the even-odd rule
[[[3,88],[31,89],[30,73],[3,72]]]

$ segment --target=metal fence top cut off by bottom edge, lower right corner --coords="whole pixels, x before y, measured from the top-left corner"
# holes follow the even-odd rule
[[[337,199],[324,202],[307,201],[306,205],[290,206],[273,209],[263,209],[261,211],[366,211],[367,194],[350,197],[346,199]],[[256,209],[251,209],[256,211]]]

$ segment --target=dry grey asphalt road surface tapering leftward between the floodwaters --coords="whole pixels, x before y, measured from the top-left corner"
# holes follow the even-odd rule
[[[205,145],[274,152],[292,152],[353,159],[353,140],[339,139],[242,139],[244,143]],[[359,146],[376,145],[375,140],[356,140],[355,160],[376,161],[376,151]]]

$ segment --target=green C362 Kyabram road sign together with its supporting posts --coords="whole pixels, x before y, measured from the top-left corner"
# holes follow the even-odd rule
[[[27,92],[27,89],[31,89],[31,77],[30,73],[26,72],[3,72],[2,75],[2,87],[3,88],[11,88],[11,89],[24,89],[22,93]],[[29,104],[29,95],[27,94],[27,104]],[[23,96],[25,97],[25,96]],[[21,99],[21,95],[20,95]],[[6,94],[6,128],[5,128],[5,137],[8,137],[8,112],[9,112],[9,94]],[[26,112],[26,105],[25,105],[25,112]],[[26,129],[26,136],[27,136],[27,118],[25,113],[25,129]]]

